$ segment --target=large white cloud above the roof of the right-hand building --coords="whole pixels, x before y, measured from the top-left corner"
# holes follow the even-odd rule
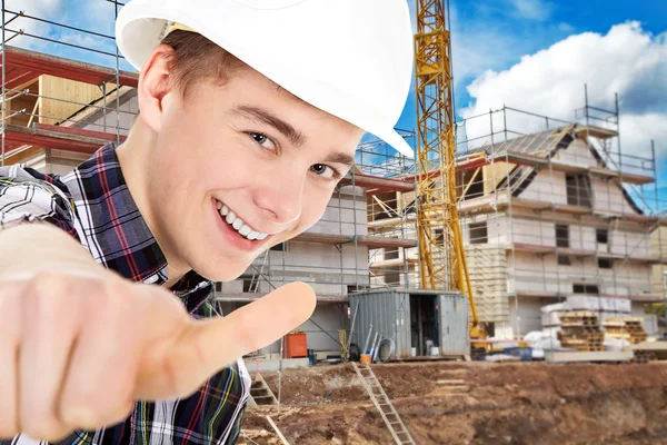
[[[584,83],[591,105],[601,108],[614,109],[618,92],[625,154],[646,155],[655,139],[667,156],[667,33],[651,36],[638,22],[617,24],[605,36],[570,36],[505,71],[484,72],[467,87],[474,103],[459,112],[471,117],[506,105],[574,120],[574,110],[584,105]],[[502,127],[499,115],[494,127]],[[508,127],[529,132],[544,129],[545,121],[515,113]],[[471,138],[488,129],[486,118],[466,130]]]

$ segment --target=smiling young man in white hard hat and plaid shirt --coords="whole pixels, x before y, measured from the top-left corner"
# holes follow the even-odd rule
[[[407,4],[133,0],[117,39],[140,68],[127,141],[62,178],[0,169],[0,437],[233,443],[249,378],[229,364],[315,296],[196,320],[209,280],[316,224],[364,131],[410,152]]]

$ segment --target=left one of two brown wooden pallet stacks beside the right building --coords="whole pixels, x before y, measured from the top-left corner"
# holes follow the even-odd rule
[[[590,312],[561,314],[558,339],[564,348],[605,350],[605,334],[600,329],[598,316]]]

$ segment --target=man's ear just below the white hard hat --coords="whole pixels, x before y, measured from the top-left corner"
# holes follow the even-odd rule
[[[169,59],[173,49],[167,44],[157,47],[143,62],[139,76],[137,96],[141,119],[155,132],[159,132],[165,115],[165,98],[171,92]]]

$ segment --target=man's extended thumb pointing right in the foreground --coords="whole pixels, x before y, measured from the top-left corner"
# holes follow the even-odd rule
[[[312,315],[316,296],[305,283],[290,283],[225,318],[191,322],[148,372],[136,397],[183,397],[237,358],[270,345]]]

